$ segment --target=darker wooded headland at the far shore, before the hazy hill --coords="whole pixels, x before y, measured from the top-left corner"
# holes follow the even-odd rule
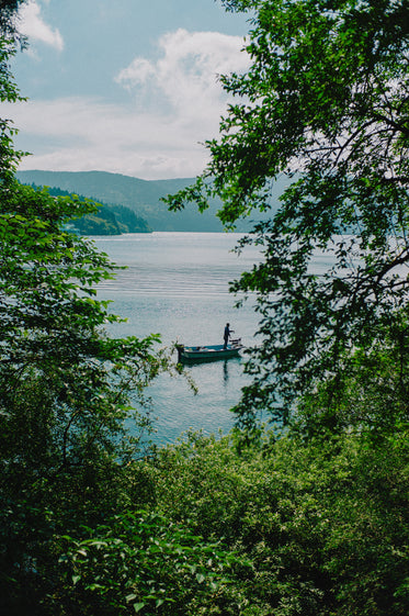
[[[34,189],[41,187],[31,183]],[[61,190],[57,187],[47,188],[53,197],[70,197],[71,192]],[[87,197],[77,195],[80,200],[86,201]],[[91,199],[100,204],[98,212],[87,214],[81,219],[72,221],[70,228],[81,235],[121,235],[122,233],[151,233],[152,229],[147,221],[138,216],[133,210],[125,205],[106,204],[98,199]]]

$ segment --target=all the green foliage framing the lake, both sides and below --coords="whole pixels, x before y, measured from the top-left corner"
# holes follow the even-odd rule
[[[19,98],[7,67],[18,4],[0,7],[3,100]],[[409,612],[407,281],[394,273],[407,256],[406,4],[225,5],[255,9],[254,65],[225,79],[250,102],[209,144],[213,186],[200,178],[174,203],[205,206],[216,191],[234,222],[268,208],[271,178],[299,171],[255,229],[265,262],[236,284],[258,291],[264,334],[242,423],[254,428],[253,402],[281,402],[271,371],[284,402],[303,393],[293,427],[281,438],[259,428],[245,450],[237,434],[144,449],[145,389],[169,359],[157,336],[106,336],[117,317],[94,285],[115,267],[64,231],[93,206],[19,184],[2,121],[0,612],[10,616]],[[317,249],[338,258],[321,278],[309,272]]]

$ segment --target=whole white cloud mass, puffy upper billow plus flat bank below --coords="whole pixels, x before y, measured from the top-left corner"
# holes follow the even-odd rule
[[[217,135],[226,96],[217,72],[245,69],[242,41],[179,30],[161,38],[161,57],[135,60],[117,80],[135,97],[124,104],[70,97],[10,105],[16,146],[34,152],[21,169],[104,170],[144,179],[200,173]],[[144,96],[141,97],[141,89]]]

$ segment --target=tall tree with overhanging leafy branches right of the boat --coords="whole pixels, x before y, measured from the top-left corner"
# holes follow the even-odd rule
[[[232,285],[255,292],[262,344],[238,407],[280,421],[294,400],[326,379],[329,424],[355,349],[382,340],[398,358],[395,382],[408,415],[408,43],[406,0],[229,0],[251,10],[251,67],[221,78],[239,101],[206,143],[211,163],[194,186],[168,198],[207,206],[221,198],[227,225],[270,208],[271,187],[288,178],[279,212],[241,242],[263,260]],[[311,268],[319,253],[327,270]],[[402,370],[402,367],[405,369]]]

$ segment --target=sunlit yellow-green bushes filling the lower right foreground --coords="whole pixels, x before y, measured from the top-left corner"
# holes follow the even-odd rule
[[[408,453],[407,428],[376,445],[270,435],[246,455],[191,435],[159,452],[157,497],[178,524],[250,561],[236,581],[239,614],[404,616]]]

